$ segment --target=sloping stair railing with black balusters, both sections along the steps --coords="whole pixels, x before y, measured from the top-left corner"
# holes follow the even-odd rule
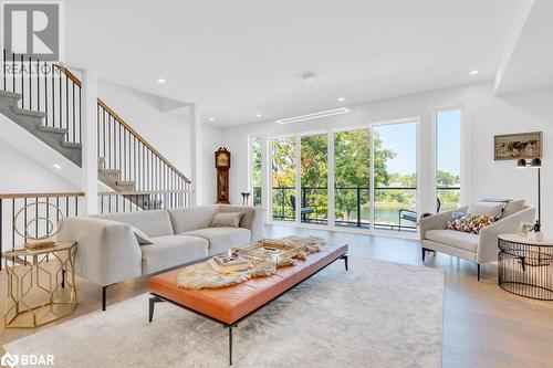
[[[66,129],[66,141],[82,141],[82,83],[69,69],[3,50],[1,87],[21,96],[19,108],[44,113],[45,126]],[[190,204],[190,180],[101,99],[97,151],[104,169],[121,170],[123,183],[134,181],[133,192],[164,197],[148,203],[165,200],[166,207]]]

